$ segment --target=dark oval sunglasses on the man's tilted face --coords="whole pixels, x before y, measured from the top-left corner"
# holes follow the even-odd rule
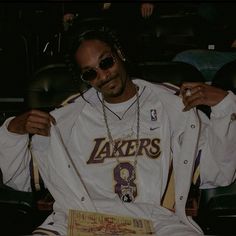
[[[111,68],[114,64],[115,58],[113,56],[107,56],[99,62],[97,67],[83,71],[80,75],[80,78],[87,82],[92,81],[97,78],[98,68],[100,68],[101,70],[107,70]]]

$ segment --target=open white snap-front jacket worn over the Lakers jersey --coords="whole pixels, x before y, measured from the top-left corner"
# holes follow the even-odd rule
[[[69,143],[71,133],[78,117],[85,106],[90,106],[81,97],[74,103],[52,112],[57,125],[52,127],[51,136],[46,138],[35,135],[32,139],[32,151],[37,159],[40,173],[46,186],[52,193],[54,215],[43,224],[44,228],[66,233],[68,209],[101,211],[123,215],[139,216],[154,221],[158,235],[178,235],[176,222],[183,222],[190,228],[180,228],[179,235],[194,235],[200,232],[199,227],[185,214],[185,204],[191,185],[194,162],[201,149],[200,176],[201,188],[226,186],[232,183],[236,173],[236,96],[229,94],[216,106],[212,107],[211,119],[196,109],[182,112],[181,99],[163,86],[136,80],[137,85],[145,87],[148,94],[155,95],[156,101],[163,108],[160,118],[165,131],[165,142],[162,149],[168,156],[173,156],[175,178],[175,214],[147,203],[124,204],[119,198],[91,199],[84,184],[83,177],[70,157]],[[85,96],[93,103],[95,91],[90,89]],[[148,98],[148,95],[147,95]],[[94,104],[92,104],[93,107]],[[97,104],[96,104],[97,105]],[[7,131],[9,119],[0,129],[0,166],[4,182],[8,185],[30,190],[28,135],[17,135]],[[16,158],[17,156],[17,158]],[[169,167],[171,158],[163,164]],[[168,174],[163,175],[165,185]],[[163,194],[165,186],[162,187]],[[112,210],[111,210],[112,209]],[[152,209],[152,214],[150,214]],[[54,225],[47,225],[53,221]],[[172,222],[168,225],[166,222]],[[180,224],[180,223],[178,223]],[[177,224],[177,225],[178,225]],[[168,228],[168,229],[167,229]],[[190,231],[188,231],[190,230]],[[172,233],[173,234],[172,234]],[[191,234],[192,233],[192,234]]]

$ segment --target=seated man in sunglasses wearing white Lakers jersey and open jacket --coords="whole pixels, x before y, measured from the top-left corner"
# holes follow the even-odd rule
[[[185,83],[182,99],[161,85],[132,79],[109,33],[87,31],[76,42],[81,78],[92,88],[51,114],[29,111],[0,130],[4,182],[29,190],[29,136],[54,212],[35,234],[66,235],[68,209],[153,221],[157,235],[199,235],[185,214],[196,158],[201,187],[235,179],[236,98],[202,83]],[[212,108],[211,119],[196,110]],[[161,206],[170,166],[174,205]]]

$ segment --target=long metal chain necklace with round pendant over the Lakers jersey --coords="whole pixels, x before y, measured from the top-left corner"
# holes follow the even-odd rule
[[[136,112],[137,112],[137,131],[136,131],[136,151],[134,155],[134,164],[133,164],[133,170],[131,173],[131,176],[127,178],[127,185],[121,186],[121,195],[120,198],[123,202],[133,202],[134,201],[134,192],[135,189],[133,186],[130,185],[130,181],[135,178],[136,176],[136,167],[137,167],[137,162],[138,162],[138,151],[139,151],[139,142],[140,142],[140,137],[139,137],[139,131],[140,131],[140,105],[139,105],[139,94],[138,94],[138,87],[135,85],[136,88]],[[117,150],[118,150],[118,142],[122,141],[121,139],[113,139],[111,135],[111,130],[108,125],[108,119],[107,119],[107,113],[106,113],[106,108],[104,105],[104,97],[102,96],[102,110],[103,110],[103,118],[105,121],[106,125],[106,130],[107,130],[107,136],[109,139],[110,145],[113,147],[113,153],[115,155],[116,161],[119,165],[119,170],[122,170],[121,167],[121,162],[119,160],[119,157],[117,156]]]

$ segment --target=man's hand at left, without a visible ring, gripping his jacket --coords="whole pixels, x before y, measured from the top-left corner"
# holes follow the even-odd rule
[[[51,123],[56,124],[56,120],[47,112],[31,110],[13,118],[7,129],[17,134],[39,134],[50,135]]]

